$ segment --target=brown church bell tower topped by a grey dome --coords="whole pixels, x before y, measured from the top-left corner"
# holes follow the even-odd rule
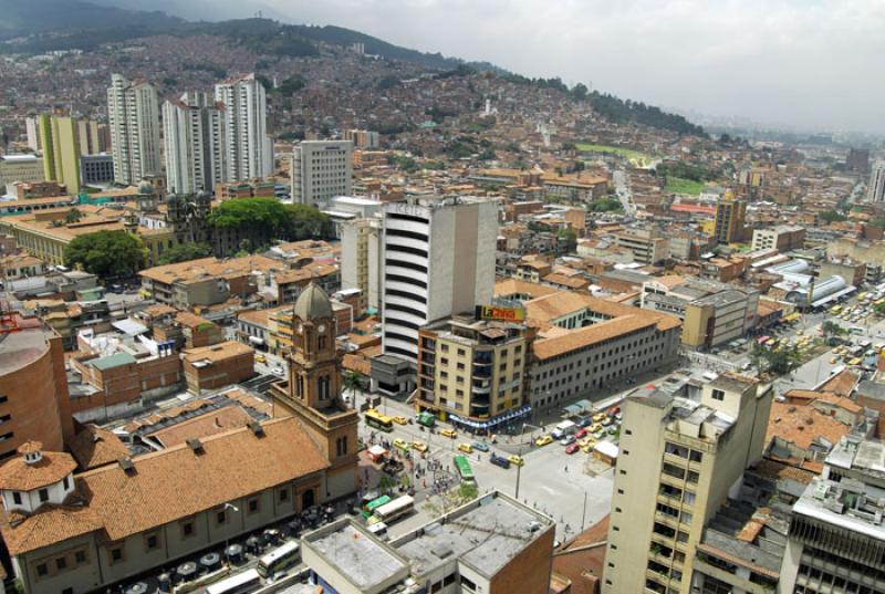
[[[311,283],[295,301],[292,315],[289,382],[272,386],[273,416],[302,421],[330,463],[325,496],[336,499],[358,489],[360,417],[341,398],[341,353],[332,302],[320,285]]]

